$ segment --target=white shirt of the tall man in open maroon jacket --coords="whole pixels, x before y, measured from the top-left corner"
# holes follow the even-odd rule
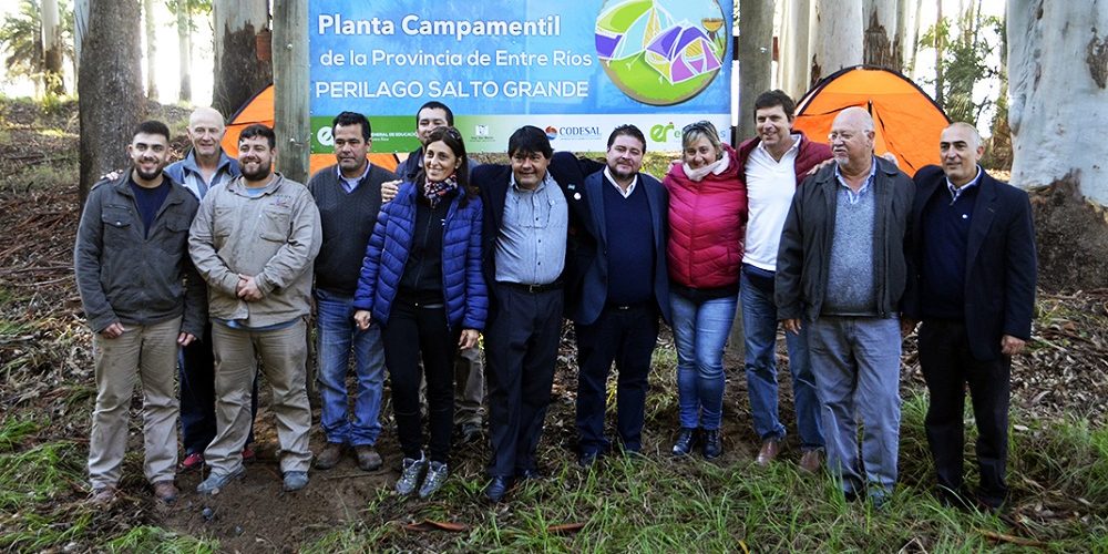
[[[750,151],[747,165],[742,168],[747,183],[746,248],[742,261],[767,271],[777,270],[777,248],[781,243],[781,229],[789,216],[789,206],[797,192],[797,155],[800,153],[802,135],[792,135],[792,146],[781,160],[773,158],[765,143]]]

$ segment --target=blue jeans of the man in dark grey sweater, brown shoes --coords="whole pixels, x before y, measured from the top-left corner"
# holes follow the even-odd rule
[[[353,298],[316,290],[316,352],[319,356],[320,425],[327,442],[372,445],[381,432],[378,416],[384,387],[384,347],[381,329],[362,331],[353,322]],[[347,368],[353,351],[358,391],[353,418],[347,417]]]

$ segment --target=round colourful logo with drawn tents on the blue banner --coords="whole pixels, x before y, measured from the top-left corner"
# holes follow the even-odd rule
[[[596,54],[624,94],[679,104],[719,73],[726,21],[716,0],[607,0],[596,18]]]

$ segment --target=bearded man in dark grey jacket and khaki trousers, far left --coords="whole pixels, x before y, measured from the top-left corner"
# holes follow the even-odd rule
[[[176,500],[177,348],[204,329],[204,285],[188,259],[197,202],[165,177],[170,130],[143,122],[127,153],[133,167],[89,194],[73,258],[92,339],[96,408],[89,440],[95,503],[112,502],[127,445],[135,379],[143,389],[144,470],[158,501]]]

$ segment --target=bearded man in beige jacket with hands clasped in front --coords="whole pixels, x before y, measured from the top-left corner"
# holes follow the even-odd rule
[[[271,172],[276,136],[255,124],[238,138],[242,176],[208,192],[189,233],[189,254],[208,284],[215,347],[216,435],[204,451],[214,494],[240,478],[250,428],[249,394],[261,358],[286,491],[308,484],[311,410],[305,389],[312,260],[319,211],[307,187]]]

